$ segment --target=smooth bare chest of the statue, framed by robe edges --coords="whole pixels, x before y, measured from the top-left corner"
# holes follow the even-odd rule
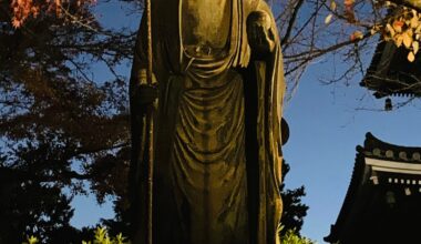
[[[229,34],[230,10],[232,0],[183,0],[183,44],[224,48]]]

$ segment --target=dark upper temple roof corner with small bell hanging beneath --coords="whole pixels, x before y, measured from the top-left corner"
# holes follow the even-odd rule
[[[374,91],[376,98],[388,95],[421,96],[421,57],[409,62],[408,50],[380,40],[361,87]]]

